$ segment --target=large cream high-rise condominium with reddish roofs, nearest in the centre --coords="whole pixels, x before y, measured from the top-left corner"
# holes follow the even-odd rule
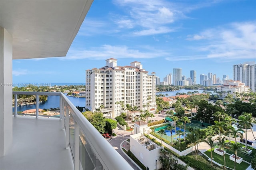
[[[154,113],[156,109],[156,75],[151,75],[134,61],[117,66],[117,60],[106,59],[106,66],[86,70],[86,108],[101,108],[106,117],[119,116],[126,105]]]

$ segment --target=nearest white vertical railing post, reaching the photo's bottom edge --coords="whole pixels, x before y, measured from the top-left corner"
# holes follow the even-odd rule
[[[78,123],[75,121],[75,170],[80,170],[80,127]]]

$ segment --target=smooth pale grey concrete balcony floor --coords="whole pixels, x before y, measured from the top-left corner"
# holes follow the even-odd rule
[[[13,144],[0,170],[73,170],[59,118],[13,117]]]

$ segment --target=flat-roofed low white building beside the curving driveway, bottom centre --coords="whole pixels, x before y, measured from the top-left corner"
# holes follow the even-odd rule
[[[142,133],[130,136],[130,151],[148,170],[158,170],[162,168],[162,164],[158,160],[161,148],[162,147],[146,138]]]

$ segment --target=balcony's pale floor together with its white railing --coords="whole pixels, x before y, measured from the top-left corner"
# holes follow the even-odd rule
[[[36,114],[17,114],[21,94],[36,95]],[[63,93],[13,95],[13,144],[0,158],[1,170],[132,170]],[[60,96],[59,117],[39,115],[39,95]]]

